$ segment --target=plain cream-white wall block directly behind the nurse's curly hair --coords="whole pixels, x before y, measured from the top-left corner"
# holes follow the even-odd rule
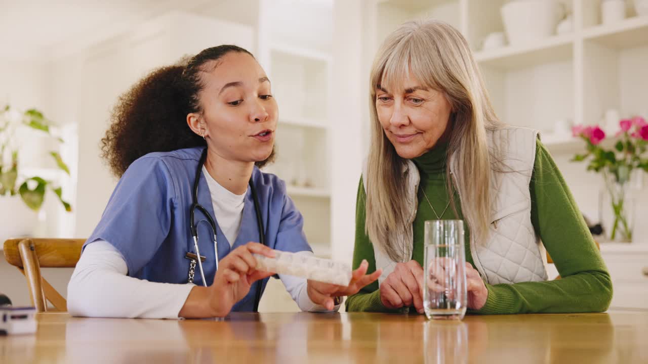
[[[77,201],[76,236],[91,234],[117,183],[98,147],[117,97],[143,74],[184,54],[222,43],[251,49],[254,42],[250,27],[183,13],[154,19],[128,33],[89,49],[84,59],[78,118],[78,196],[84,198]]]

